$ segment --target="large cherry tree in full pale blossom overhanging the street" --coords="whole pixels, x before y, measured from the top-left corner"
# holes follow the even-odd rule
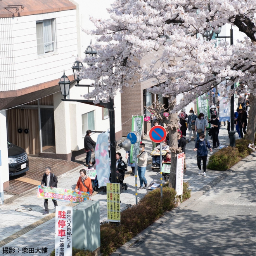
[[[116,0],[108,10],[110,19],[92,17],[96,29],[86,31],[98,37],[93,45],[97,56],[83,59],[88,65],[81,76],[92,80],[94,87],[85,99],[107,102],[124,86],[152,81],[151,92],[169,99],[167,123],[171,172],[175,173],[175,155],[180,152],[176,112],[223,81],[227,87],[242,81],[251,92],[248,138],[252,140],[256,125],[255,9],[254,0]],[[234,46],[211,40],[214,31],[226,23],[245,35]],[[141,65],[148,55],[151,64]],[[183,100],[176,104],[179,93]],[[231,96],[234,90],[227,93]],[[171,177],[170,186],[175,187]]]

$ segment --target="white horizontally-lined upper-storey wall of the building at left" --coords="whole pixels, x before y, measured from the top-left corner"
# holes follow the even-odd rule
[[[54,53],[38,56],[36,21],[55,19]],[[0,91],[19,90],[71,75],[77,55],[76,10],[0,19]]]

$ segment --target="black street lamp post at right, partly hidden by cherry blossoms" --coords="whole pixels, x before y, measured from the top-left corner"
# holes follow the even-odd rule
[[[218,28],[216,31],[206,31],[203,35],[204,40],[210,41],[213,37],[213,34],[215,33],[215,38],[230,38],[230,45],[234,45],[234,34],[233,34],[233,28],[231,26],[230,28],[230,36],[219,36],[221,32],[221,27]],[[230,90],[234,90],[234,83],[230,86]],[[230,131],[228,131],[229,134],[229,145],[231,147],[235,147],[235,125],[234,125],[234,107],[235,107],[235,95],[232,94],[232,97],[230,99]]]

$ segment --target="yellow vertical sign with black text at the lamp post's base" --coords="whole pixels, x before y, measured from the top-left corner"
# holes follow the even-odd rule
[[[107,219],[120,222],[120,184],[107,183]]]

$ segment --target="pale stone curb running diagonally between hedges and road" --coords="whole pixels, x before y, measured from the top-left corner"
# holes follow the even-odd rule
[[[171,211],[168,211],[164,214],[163,217],[159,218],[157,221],[155,221],[152,225],[149,227],[145,228],[142,232],[140,232],[138,235],[133,237],[131,240],[129,240],[127,243],[125,243],[123,246],[121,246],[119,249],[117,249],[114,253],[112,253],[112,256],[118,256],[122,255],[123,253],[128,253],[127,250],[130,247],[133,247],[138,241],[144,240],[147,235],[153,232],[153,230],[164,223],[166,221],[170,221],[170,219],[178,214],[180,211],[182,211],[184,208],[187,208],[188,206],[192,206],[193,204],[196,203],[196,201],[204,195],[207,191],[212,189],[216,184],[224,180],[227,176],[230,174],[234,173],[237,171],[240,167],[242,167],[245,163],[251,161],[253,157],[256,156],[256,152],[251,153],[249,156],[245,157],[239,163],[234,164],[232,168],[229,170],[225,171],[225,173],[221,173],[217,178],[215,178],[213,181],[209,182],[207,185],[205,185],[202,189],[199,191],[195,192],[188,200],[183,202],[182,204],[178,205],[176,208],[174,208]]]

